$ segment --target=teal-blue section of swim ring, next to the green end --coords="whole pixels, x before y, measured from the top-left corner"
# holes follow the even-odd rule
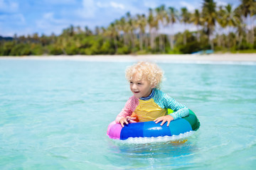
[[[171,130],[171,135],[180,135],[181,133],[192,130],[191,124],[183,118],[171,121],[169,128]]]

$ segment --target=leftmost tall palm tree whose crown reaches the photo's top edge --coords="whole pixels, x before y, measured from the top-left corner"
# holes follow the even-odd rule
[[[216,3],[213,0],[203,0],[203,22],[205,23],[206,33],[208,35],[208,40],[210,43],[210,48],[213,50],[213,42],[211,40],[211,35],[216,22]]]

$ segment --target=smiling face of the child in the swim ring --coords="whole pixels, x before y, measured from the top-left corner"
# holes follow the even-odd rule
[[[149,96],[153,88],[154,86],[151,86],[148,80],[139,80],[136,74],[130,81],[130,89],[137,98]]]

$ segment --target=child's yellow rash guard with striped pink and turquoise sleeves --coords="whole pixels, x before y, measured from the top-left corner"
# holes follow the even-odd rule
[[[119,123],[121,118],[131,116],[133,112],[138,115],[139,122],[151,121],[167,115],[167,108],[174,111],[170,114],[174,120],[183,118],[189,113],[188,108],[175,101],[174,98],[163,91],[152,89],[151,94],[146,98],[130,97],[115,121]]]

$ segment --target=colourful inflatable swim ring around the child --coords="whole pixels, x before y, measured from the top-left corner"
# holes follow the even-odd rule
[[[171,121],[169,127],[167,123],[162,126],[160,124],[154,121],[129,123],[122,128],[120,124],[112,122],[107,128],[107,135],[114,140],[127,140],[130,137],[172,137],[196,131],[200,127],[198,118],[191,110],[188,116]]]

